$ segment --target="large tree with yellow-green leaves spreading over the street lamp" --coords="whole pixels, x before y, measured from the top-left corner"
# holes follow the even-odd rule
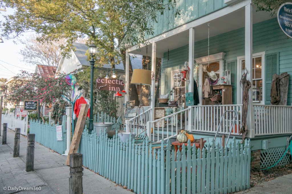
[[[4,0],[4,6],[15,9],[13,15],[4,16],[1,22],[2,37],[15,38],[26,31],[41,34],[40,41],[66,39],[61,45],[63,54],[69,55],[72,43],[88,38],[88,44],[98,48],[98,63],[112,67],[126,62],[126,46],[145,43],[145,36],[153,34],[158,14],[166,9],[175,11],[175,0]],[[130,64],[130,80],[132,76]],[[131,100],[138,103],[135,85],[127,91]]]

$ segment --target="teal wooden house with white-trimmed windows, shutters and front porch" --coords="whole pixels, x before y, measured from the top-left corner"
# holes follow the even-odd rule
[[[153,23],[154,34],[147,37],[147,44],[135,45],[127,49],[126,72],[129,71],[129,54],[151,53],[152,72],[156,58],[162,58],[160,93],[186,98],[186,92],[194,92],[194,82],[199,91],[199,105],[178,106],[177,110],[155,117],[155,102],[145,111],[146,120],[136,116],[126,123],[128,130],[142,130],[133,126],[134,121],[145,122],[146,135],[150,141],[170,139],[175,141],[181,128],[185,128],[195,138],[215,136],[220,119],[225,110],[235,110],[235,124],[229,128],[231,117],[223,116],[219,134],[235,137],[241,141],[239,130],[242,124],[243,74],[251,81],[247,113],[247,138],[251,141],[253,166],[269,167],[285,152],[287,139],[292,135],[292,39],[281,30],[277,17],[270,13],[256,11],[251,1],[246,0],[178,0],[181,15],[174,11],[159,15],[158,23]],[[147,50],[147,51],[146,51]],[[189,80],[181,81],[181,71],[187,62]],[[228,75],[232,92],[225,94],[228,103],[210,104],[204,100],[203,85],[207,72],[214,70],[217,77]],[[287,72],[287,103],[270,105],[272,76]],[[130,83],[126,73],[126,91]],[[286,83],[287,84],[287,83]],[[225,90],[225,89],[223,89]],[[152,80],[151,95],[155,91]],[[152,99],[153,96],[151,96]],[[125,101],[129,96],[125,96]],[[140,131],[139,131],[140,130]],[[208,143],[207,141],[207,143]],[[218,141],[221,141],[220,139]],[[286,155],[279,164],[290,161]]]

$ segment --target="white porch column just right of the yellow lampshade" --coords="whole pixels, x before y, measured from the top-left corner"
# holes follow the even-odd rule
[[[155,75],[156,69],[156,42],[152,43],[152,55],[151,55],[151,71]],[[150,107],[152,108],[152,114],[150,117],[150,121],[154,121],[154,107],[155,107],[155,76],[154,80],[151,80],[151,101]]]

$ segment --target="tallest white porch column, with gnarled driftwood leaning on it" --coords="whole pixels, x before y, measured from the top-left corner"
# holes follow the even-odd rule
[[[251,88],[248,91],[248,112],[247,112],[247,136],[254,137],[254,110],[253,110],[253,10],[251,3],[245,6],[245,67],[248,71],[246,80],[251,82]]]

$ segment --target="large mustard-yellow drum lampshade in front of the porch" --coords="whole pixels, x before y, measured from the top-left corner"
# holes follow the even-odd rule
[[[134,69],[131,84],[151,86],[151,71],[145,69]]]

